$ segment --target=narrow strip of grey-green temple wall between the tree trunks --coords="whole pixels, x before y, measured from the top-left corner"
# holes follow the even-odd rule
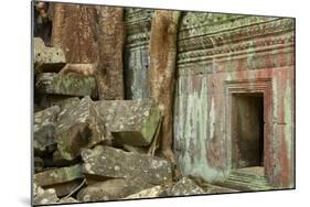
[[[153,10],[126,8],[124,75],[126,99],[149,98],[149,40]]]

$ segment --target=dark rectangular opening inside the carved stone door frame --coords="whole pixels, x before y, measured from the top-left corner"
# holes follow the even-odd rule
[[[264,95],[233,95],[233,167],[264,166]]]

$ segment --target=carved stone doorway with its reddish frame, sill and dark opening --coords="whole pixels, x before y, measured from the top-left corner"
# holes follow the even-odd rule
[[[225,185],[269,188],[274,177],[270,79],[228,80],[225,98],[229,167]]]

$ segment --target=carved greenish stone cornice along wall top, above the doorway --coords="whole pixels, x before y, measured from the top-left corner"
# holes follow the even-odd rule
[[[214,59],[232,62],[243,55],[292,53],[293,30],[293,19],[185,13],[179,33],[177,63],[182,68]]]

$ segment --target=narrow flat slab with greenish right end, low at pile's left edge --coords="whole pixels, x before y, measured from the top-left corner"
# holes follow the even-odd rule
[[[78,178],[83,178],[82,166],[79,164],[62,168],[49,170],[34,175],[34,182],[39,186],[43,187],[67,183]]]

